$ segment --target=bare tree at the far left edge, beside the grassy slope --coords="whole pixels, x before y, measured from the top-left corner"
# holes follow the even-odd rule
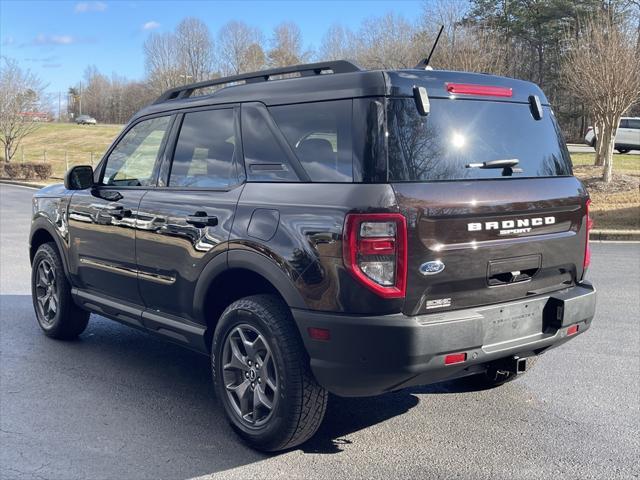
[[[26,114],[38,110],[43,85],[15,60],[2,57],[0,62],[0,143],[4,161],[9,162],[20,142],[39,126]]]

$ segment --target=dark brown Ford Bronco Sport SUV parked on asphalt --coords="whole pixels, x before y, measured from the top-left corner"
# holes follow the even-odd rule
[[[33,304],[53,338],[91,312],[210,355],[275,451],[328,392],[495,386],[582,334],[589,228],[537,86],[301,65],[169,90],[37,192]]]

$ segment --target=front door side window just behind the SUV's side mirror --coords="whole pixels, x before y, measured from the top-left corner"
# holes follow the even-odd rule
[[[120,186],[150,185],[169,120],[170,117],[157,117],[134,125],[109,154],[103,183]]]

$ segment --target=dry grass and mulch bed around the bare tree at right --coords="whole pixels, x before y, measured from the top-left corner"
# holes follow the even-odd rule
[[[572,153],[575,175],[589,189],[591,216],[598,230],[640,229],[640,155],[614,153],[614,180],[604,187],[597,178],[601,167],[593,167],[595,154]]]

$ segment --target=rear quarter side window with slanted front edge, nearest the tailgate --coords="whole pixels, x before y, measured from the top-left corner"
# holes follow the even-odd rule
[[[311,180],[353,180],[351,100],[285,105],[269,111]]]

